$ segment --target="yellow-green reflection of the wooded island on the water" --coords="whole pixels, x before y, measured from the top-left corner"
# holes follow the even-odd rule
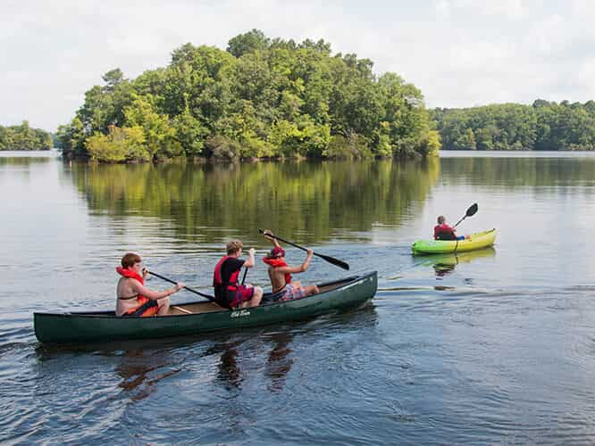
[[[75,163],[65,171],[92,211],[173,219],[187,240],[219,241],[233,230],[282,227],[313,242],[337,228],[398,225],[411,203],[423,202],[436,184],[440,161]]]

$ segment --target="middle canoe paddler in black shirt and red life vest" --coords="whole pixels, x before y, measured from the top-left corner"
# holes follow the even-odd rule
[[[223,308],[257,307],[263,298],[263,289],[260,286],[239,285],[239,271],[242,267],[255,266],[255,250],[250,249],[248,259],[242,260],[242,244],[239,240],[232,240],[227,244],[227,255],[222,257],[214,268],[213,286],[215,301]]]

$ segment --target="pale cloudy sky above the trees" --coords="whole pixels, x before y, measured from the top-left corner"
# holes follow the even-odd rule
[[[54,131],[90,87],[185,43],[323,38],[421,88],[428,107],[595,99],[595,0],[1,0],[0,125]]]

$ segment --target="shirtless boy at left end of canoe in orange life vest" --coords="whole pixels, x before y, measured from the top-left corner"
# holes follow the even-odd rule
[[[122,267],[116,268],[120,280],[116,287],[116,316],[140,317],[165,316],[170,310],[173,293],[179,292],[184,284],[176,284],[165,291],[151,291],[145,286],[147,269],[141,271],[142,260],[138,254],[129,252],[122,257]],[[142,277],[140,276],[142,274]]]

